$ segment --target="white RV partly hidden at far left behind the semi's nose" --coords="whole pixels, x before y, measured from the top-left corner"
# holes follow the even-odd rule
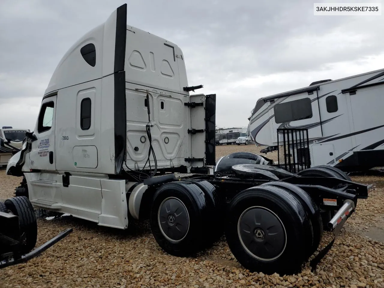
[[[0,166],[8,164],[9,159],[22,148],[25,133],[29,129],[15,129],[11,126],[3,126],[0,129]]]

